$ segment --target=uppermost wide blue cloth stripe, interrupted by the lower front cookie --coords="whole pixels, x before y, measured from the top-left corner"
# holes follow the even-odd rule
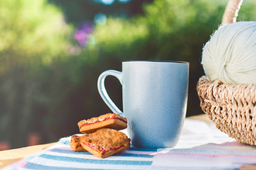
[[[74,150],[65,150],[65,149],[53,149],[51,152],[56,153],[67,153],[67,154],[78,154],[78,155],[92,155],[89,152],[76,152]],[[133,154],[133,153],[118,153],[115,156],[124,156],[124,157],[139,157],[139,158],[153,158],[154,155],[145,155],[145,154]]]

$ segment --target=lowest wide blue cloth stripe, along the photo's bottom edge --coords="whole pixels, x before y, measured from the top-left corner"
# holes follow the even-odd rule
[[[69,167],[55,167],[55,166],[46,166],[36,163],[27,163],[23,168],[32,169],[32,170],[102,170],[102,169],[92,169],[92,168],[69,168]]]

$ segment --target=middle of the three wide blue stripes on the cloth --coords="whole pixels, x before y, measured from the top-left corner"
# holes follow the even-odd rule
[[[115,165],[151,165],[153,161],[136,161],[136,160],[94,160],[94,159],[83,159],[83,158],[73,158],[66,156],[56,156],[42,154],[39,157],[46,158],[49,160],[59,160],[66,162],[77,162],[77,163],[95,163],[95,164],[115,164]]]

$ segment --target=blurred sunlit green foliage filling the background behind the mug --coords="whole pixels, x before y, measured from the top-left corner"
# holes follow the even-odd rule
[[[0,3],[0,141],[24,147],[28,135],[38,133],[41,143],[54,142],[78,133],[79,120],[110,112],[97,92],[97,77],[121,70],[122,60],[190,62],[187,116],[202,113],[195,90],[204,74],[202,47],[218,29],[226,1],[154,0],[143,5],[143,13],[109,14],[105,25],[95,26],[87,47],[73,40],[78,21],[65,5],[49,2]],[[256,20],[255,1],[244,2],[238,20]],[[70,47],[81,52],[72,55]],[[108,77],[105,84],[122,108],[118,80]]]

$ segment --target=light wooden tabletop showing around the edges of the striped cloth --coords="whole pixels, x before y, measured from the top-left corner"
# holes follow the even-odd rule
[[[189,119],[194,120],[203,120],[205,122],[212,122],[206,114],[187,117]],[[25,148],[18,148],[18,149],[12,149],[12,150],[4,150],[0,152],[0,168],[3,168],[11,163],[14,163],[18,160],[21,160],[22,158],[26,158],[29,155],[36,154],[56,143],[49,143],[44,145],[35,145],[35,146],[28,146]],[[256,170],[256,166],[244,166],[240,170]]]

